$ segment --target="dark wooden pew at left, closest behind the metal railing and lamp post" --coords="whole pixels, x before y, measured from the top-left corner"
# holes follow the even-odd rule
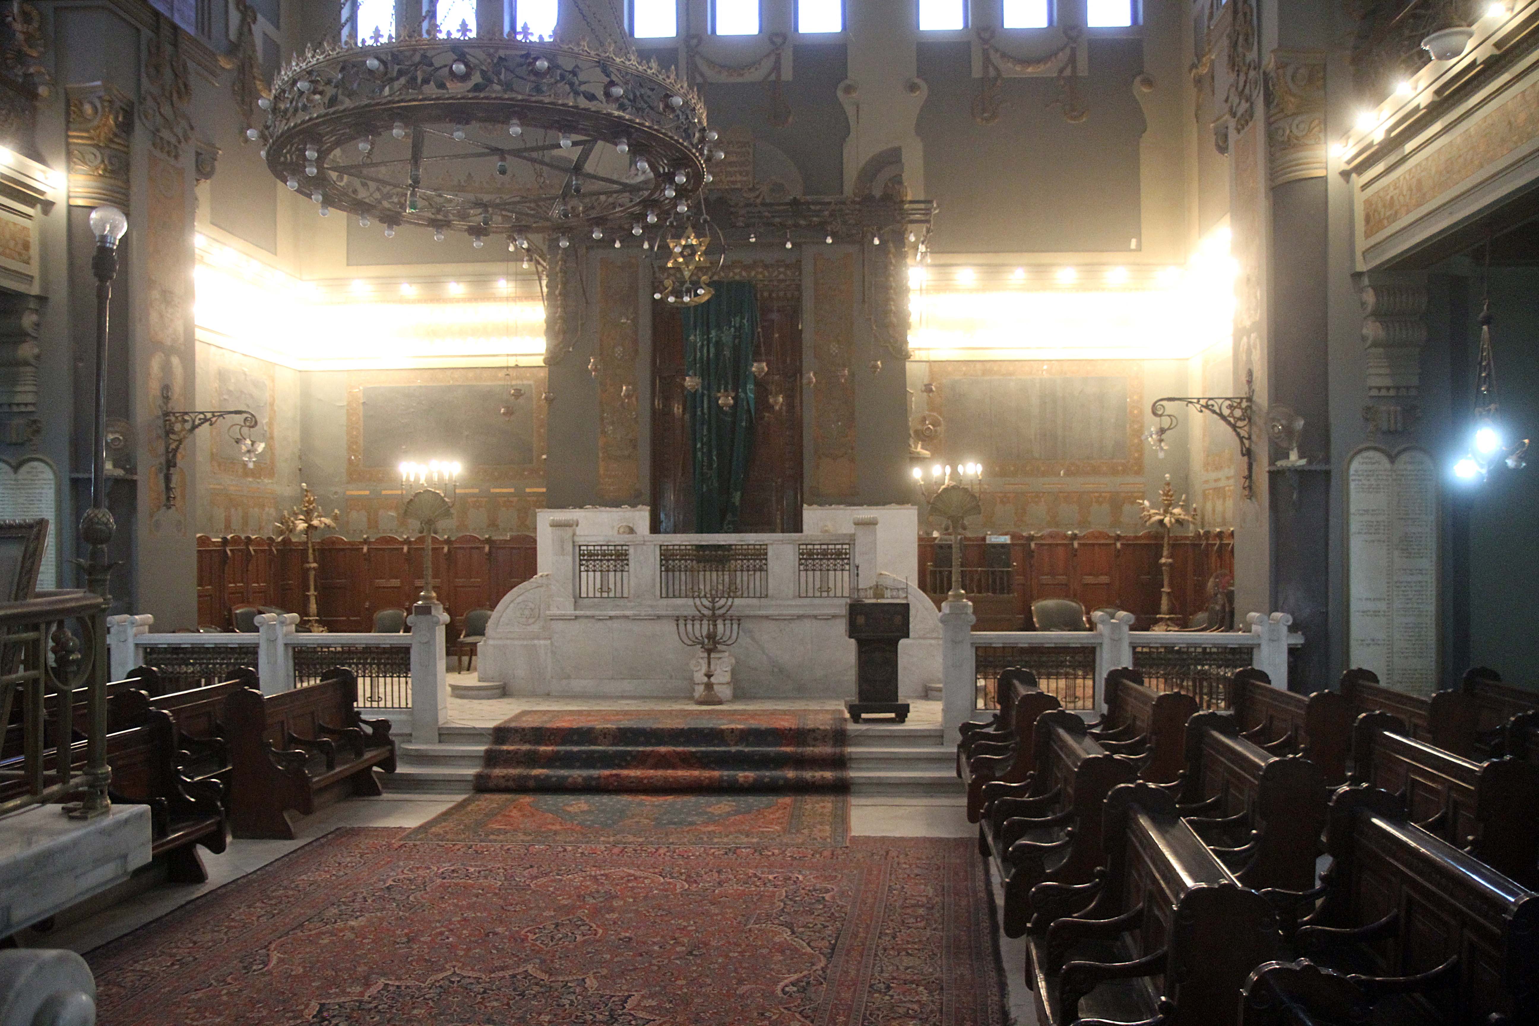
[[[112,801],[148,804],[151,855],[165,863],[172,883],[203,883],[208,872],[199,844],[223,852],[229,838],[223,795],[217,786],[186,778],[177,768],[175,726],[159,709],[140,706],[142,720],[106,735],[106,761],[112,771],[108,795]],[[86,741],[69,746],[71,772],[86,768]],[[48,758],[55,766],[58,751]],[[20,757],[0,761],[0,772],[20,769]],[[0,783],[0,800],[25,791],[20,780]]]

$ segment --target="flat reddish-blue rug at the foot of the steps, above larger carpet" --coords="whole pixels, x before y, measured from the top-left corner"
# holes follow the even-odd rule
[[[848,834],[850,797],[836,791],[472,794],[405,840],[839,848]]]

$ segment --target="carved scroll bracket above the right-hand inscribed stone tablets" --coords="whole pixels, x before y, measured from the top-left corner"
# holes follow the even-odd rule
[[[1420,408],[1422,346],[1427,343],[1427,277],[1416,272],[1359,272],[1368,403],[1364,418],[1394,434],[1416,423]]]

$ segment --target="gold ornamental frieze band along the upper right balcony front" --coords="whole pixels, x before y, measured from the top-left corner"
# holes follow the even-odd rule
[[[1437,149],[1414,160],[1362,200],[1362,234],[1373,238],[1539,135],[1539,82],[1517,92]]]

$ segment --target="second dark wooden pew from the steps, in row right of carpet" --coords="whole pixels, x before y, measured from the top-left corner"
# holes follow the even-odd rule
[[[1133,760],[1107,752],[1068,709],[1037,717],[1033,745],[1037,769],[1019,784],[1025,794],[993,798],[979,823],[979,854],[993,858],[1005,889],[1007,937],[1030,928],[1036,884],[1094,878],[1103,861],[1100,809],[1107,794],[1137,778]]]

